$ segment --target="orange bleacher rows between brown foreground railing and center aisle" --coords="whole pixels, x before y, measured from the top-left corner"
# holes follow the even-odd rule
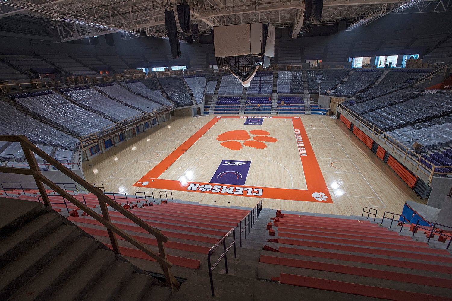
[[[20,199],[38,201],[39,191],[25,190],[7,191],[8,195],[17,196]],[[47,191],[52,193],[52,191]],[[86,205],[96,208],[99,205],[97,197],[93,194],[83,194],[74,196],[79,201],[85,201]],[[113,199],[113,196],[109,196]],[[49,195],[51,203],[61,203],[61,196]],[[121,200],[125,202],[125,200]],[[67,201],[66,201],[67,202]],[[134,200],[135,202],[135,200]],[[129,201],[132,204],[131,201]],[[240,210],[232,208],[210,207],[205,205],[192,205],[183,203],[171,203],[154,206],[142,206],[144,200],[138,200],[140,207],[132,207],[131,212],[144,220],[146,224],[161,230],[162,234],[169,240],[165,243],[167,257],[171,263],[184,268],[197,269],[200,266],[200,259],[206,258],[207,253],[231,228],[236,227],[245,216],[250,214],[250,210]],[[52,204],[52,208],[63,212],[69,210],[79,210],[71,203]],[[121,204],[123,205],[123,204]],[[120,229],[125,230],[133,238],[151,249],[158,252],[157,240],[146,230],[132,223],[116,210],[109,210],[112,223]],[[69,216],[68,220],[78,225],[86,233],[94,236],[111,248],[108,239],[108,232],[105,227],[90,216]],[[141,258],[155,261],[141,250],[127,243],[118,236],[120,251],[123,256]]]

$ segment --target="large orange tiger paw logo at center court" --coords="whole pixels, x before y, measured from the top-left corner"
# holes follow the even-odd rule
[[[253,135],[252,138],[251,135]],[[267,148],[266,143],[278,142],[278,139],[268,135],[270,135],[270,133],[261,129],[253,129],[249,132],[243,129],[238,129],[219,134],[217,140],[222,141],[220,143],[221,146],[231,150],[240,150],[243,146],[264,149]]]

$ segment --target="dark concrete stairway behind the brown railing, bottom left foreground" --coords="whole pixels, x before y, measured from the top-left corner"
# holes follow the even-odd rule
[[[0,198],[0,300],[166,300],[170,289],[41,203]]]

